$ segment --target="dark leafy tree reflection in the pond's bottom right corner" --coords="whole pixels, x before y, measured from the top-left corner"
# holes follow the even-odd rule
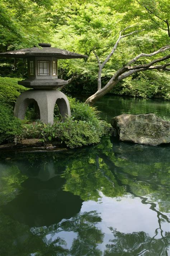
[[[165,233],[164,238],[155,239],[145,232],[133,232],[131,234],[119,232],[110,228],[113,239],[106,245],[104,256],[111,255],[162,255],[167,256],[170,233]]]

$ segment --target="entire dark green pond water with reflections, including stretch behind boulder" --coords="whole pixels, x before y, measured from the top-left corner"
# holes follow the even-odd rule
[[[107,96],[101,117],[169,103]],[[10,160],[6,158],[10,157]],[[119,143],[0,158],[0,255],[169,255],[170,146]]]

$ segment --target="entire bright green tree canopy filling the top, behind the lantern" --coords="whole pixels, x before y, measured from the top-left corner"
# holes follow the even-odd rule
[[[88,60],[60,60],[59,76],[68,79],[81,75],[76,85],[88,85],[90,92],[95,92],[98,87],[95,53],[103,63],[120,31],[127,28],[123,35],[133,32],[119,42],[114,57],[102,69],[103,87],[119,68],[138,54],[148,54],[169,44],[169,19],[167,0],[3,0],[0,2],[0,45],[4,51],[51,42],[52,46],[86,54]],[[148,57],[145,56],[142,61],[138,64],[148,63]],[[160,80],[169,77],[165,71],[152,72],[157,77],[155,81],[151,72],[147,72],[142,77],[139,73],[132,75],[130,79],[119,82],[119,85],[126,85],[128,80],[132,87],[133,81],[140,87],[149,80],[157,88],[161,86]],[[139,81],[142,81],[142,85]],[[168,95],[167,87],[166,98]]]

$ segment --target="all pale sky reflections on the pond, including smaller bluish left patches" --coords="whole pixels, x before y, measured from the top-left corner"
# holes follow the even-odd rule
[[[97,202],[92,200],[83,202],[80,214],[95,211],[101,217],[101,222],[95,224],[95,227],[104,234],[103,242],[97,245],[103,253],[107,245],[113,244],[113,229],[123,234],[145,232],[148,237],[154,239],[161,239],[165,236],[165,232],[170,231],[169,223],[164,220],[161,221],[160,228],[157,213],[150,209],[150,204],[143,204],[141,198],[133,197],[131,194],[111,198],[104,196],[101,192],[100,196]],[[164,214],[167,215],[167,213]],[[72,222],[73,218],[67,221]],[[61,223],[65,221],[63,219]],[[56,230],[52,228],[52,232],[46,234],[43,240],[46,244],[56,241],[56,245],[62,244],[62,248],[71,250],[78,234],[73,231],[63,231],[60,228],[61,223],[58,223]],[[35,234],[39,232],[39,228],[32,228],[32,231]],[[57,239],[60,240],[58,243]],[[126,252],[126,249],[124,250]]]

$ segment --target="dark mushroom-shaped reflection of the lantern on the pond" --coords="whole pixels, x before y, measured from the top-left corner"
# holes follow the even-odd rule
[[[63,191],[64,183],[60,176],[45,182],[28,178],[22,183],[23,193],[3,206],[2,212],[30,227],[49,226],[70,219],[80,211],[83,201]]]

